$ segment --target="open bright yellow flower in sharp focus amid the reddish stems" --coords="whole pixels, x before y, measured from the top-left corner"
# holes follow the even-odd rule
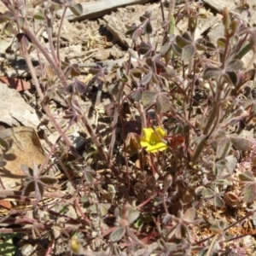
[[[163,151],[168,148],[166,143],[163,143],[163,138],[166,136],[166,131],[161,127],[155,128],[143,128],[144,137],[141,137],[141,145],[146,148],[147,152],[155,153],[157,151]]]

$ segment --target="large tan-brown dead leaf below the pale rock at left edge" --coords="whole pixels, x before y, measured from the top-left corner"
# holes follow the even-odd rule
[[[4,188],[18,190],[21,187],[21,180],[25,177],[20,165],[32,168],[32,161],[40,165],[44,161],[43,148],[38,138],[38,134],[31,127],[15,127],[0,131],[0,137],[7,140],[10,148],[0,154],[7,161],[7,165],[0,168],[0,176]]]

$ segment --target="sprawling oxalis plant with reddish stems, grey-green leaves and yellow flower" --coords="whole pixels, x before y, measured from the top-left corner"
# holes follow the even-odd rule
[[[207,19],[200,3],[186,1],[175,13],[171,0],[166,16],[160,1],[161,27],[154,27],[155,17],[148,11],[139,22],[127,24],[126,34],[132,39],[129,60],[111,71],[101,66],[90,69],[94,82],[105,84],[112,99],[105,106],[112,133],[105,139],[80,106],[87,84],[79,80],[79,65],[60,55],[66,10],[79,16],[81,5],[42,1],[33,3],[29,12],[22,0],[2,2],[9,9],[0,16],[3,31],[15,37],[40,108],[60,137],[42,166],[22,166],[27,178],[20,194],[3,193],[31,205],[33,217],[24,218],[14,210],[2,222],[21,228],[1,232],[47,238],[45,255],[59,255],[55,247],[60,244],[63,255],[244,255],[242,238],[250,233],[241,230],[250,224],[256,196],[255,177],[248,167],[255,161],[255,92],[250,86],[255,54],[246,67],[242,61],[255,52],[256,30],[247,20],[247,3],[232,14],[223,9],[224,36],[216,44],[195,37],[199,20]],[[54,14],[61,7],[64,13],[54,32]],[[187,29],[176,32],[183,19],[188,20]],[[49,50],[40,40],[41,27]],[[156,38],[156,32],[162,38]],[[41,77],[32,63],[33,49]],[[53,70],[54,78],[45,67]],[[67,103],[65,129],[49,110],[49,100],[56,94]],[[90,134],[89,154],[80,154],[67,137],[76,123]],[[0,143],[4,167],[9,143]],[[51,192],[52,183],[58,182],[47,176],[51,161],[67,177],[67,184],[55,185],[65,185],[66,195]],[[51,203],[46,197],[59,200]],[[67,215],[71,207],[79,218]],[[227,220],[230,212],[236,222]],[[20,241],[21,252],[25,245]]]

